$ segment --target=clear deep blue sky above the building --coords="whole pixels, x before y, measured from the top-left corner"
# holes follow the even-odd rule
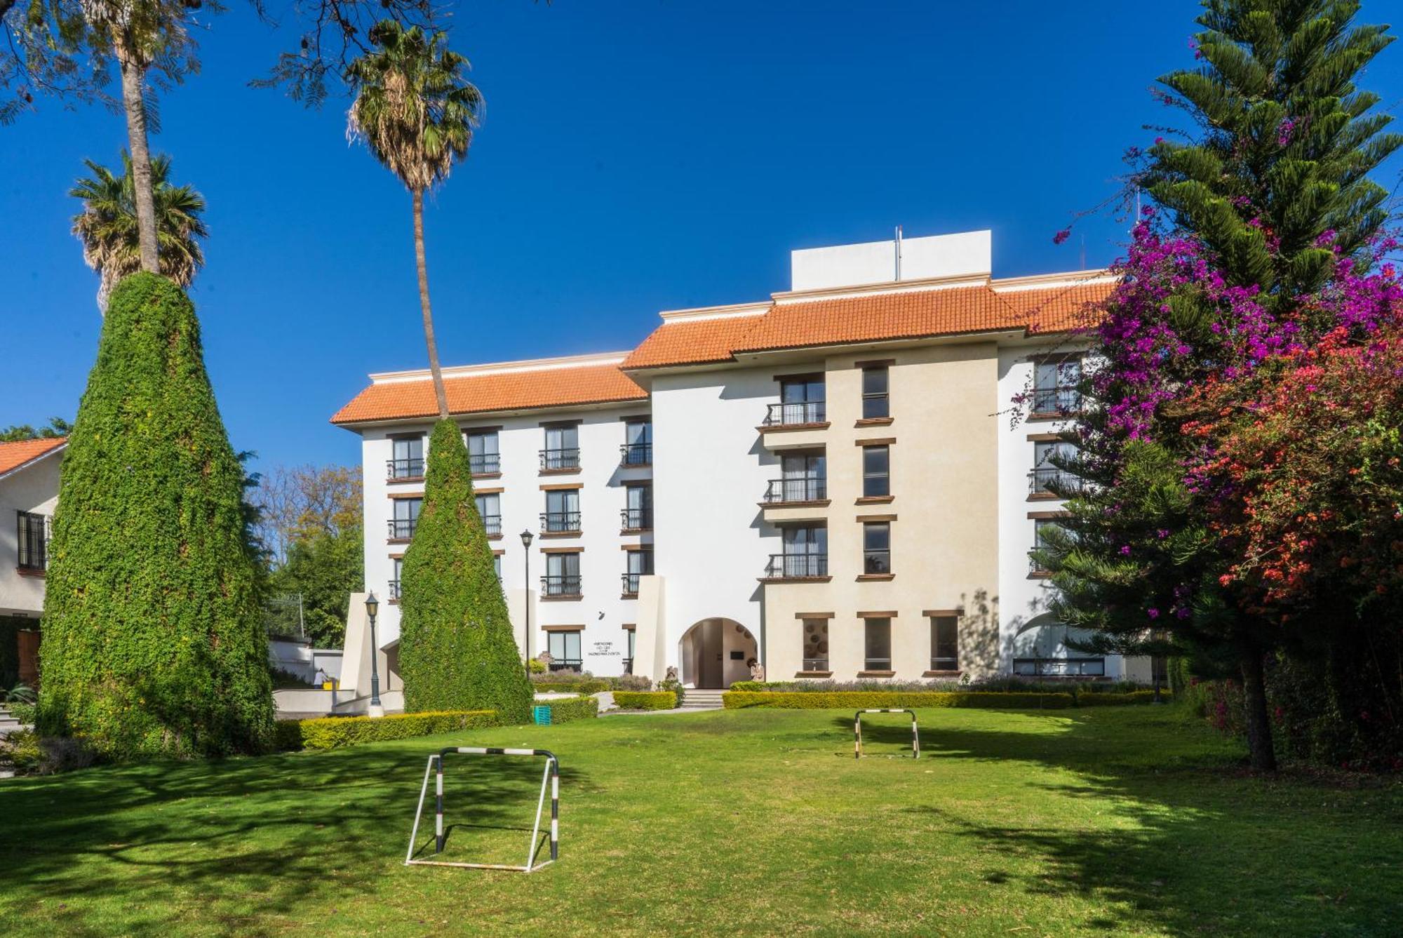
[[[285,0],[286,1],[286,0]],[[370,371],[427,364],[410,198],[345,140],[344,98],[306,111],[247,87],[293,42],[241,0],[203,70],[161,101],[153,149],[208,202],[192,296],[236,448],[261,465],[355,462],[327,423]],[[290,8],[290,4],[288,4]],[[1365,18],[1383,15],[1365,3]],[[278,13],[276,4],[274,11]],[[995,272],[1118,254],[1079,223],[1122,150],[1172,114],[1155,76],[1193,63],[1193,0],[478,0],[452,7],[487,121],[428,208],[446,364],[627,348],[659,309],[760,299],[788,251],[993,229]],[[290,13],[289,13],[290,15]],[[1364,84],[1403,97],[1403,46]],[[93,364],[97,277],[69,234],[84,157],[121,118],[41,111],[0,129],[0,425],[72,417]],[[1388,167],[1396,183],[1399,163]]]

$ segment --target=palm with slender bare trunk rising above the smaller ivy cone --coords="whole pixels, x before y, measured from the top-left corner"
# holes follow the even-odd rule
[[[483,119],[483,95],[463,77],[466,58],[446,48],[448,35],[405,29],[394,20],[370,28],[375,46],[347,70],[356,90],[347,133],[363,139],[375,157],[410,190],[414,204],[414,260],[419,274],[419,309],[439,417],[448,417],[448,392],[434,340],[429,271],[424,260],[424,192],[448,178],[467,156],[473,129]]]

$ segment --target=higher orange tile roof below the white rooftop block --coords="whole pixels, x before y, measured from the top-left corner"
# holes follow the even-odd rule
[[[1108,279],[1000,289],[968,286],[786,299],[759,316],[664,322],[623,368],[731,361],[737,352],[1023,329],[1065,331],[1094,317]],[[1089,308],[1089,305],[1093,305]]]

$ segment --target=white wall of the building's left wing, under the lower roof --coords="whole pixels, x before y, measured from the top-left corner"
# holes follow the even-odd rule
[[[474,487],[501,489],[501,535],[491,541],[501,552],[502,587],[512,616],[518,646],[525,645],[525,601],[530,597],[532,635],[530,653],[540,654],[549,647],[547,626],[581,626],[584,668],[599,675],[622,674],[629,654],[623,625],[634,623],[637,600],[623,597],[622,576],[627,572],[624,545],[651,543],[651,534],[622,534],[620,513],[627,504],[624,483],[651,479],[647,468],[622,468],[620,447],[624,444],[626,417],[647,416],[647,402],[595,410],[537,410],[512,416],[460,417],[464,432],[499,427],[499,479],[474,479]],[[540,472],[540,451],[546,448],[543,423],[578,420],[578,473]],[[365,569],[366,588],[377,595],[389,595],[389,581],[394,577],[393,556],[404,553],[405,543],[387,543],[387,522],[393,517],[393,494],[422,493],[422,482],[387,480],[387,461],[393,454],[391,438],[407,432],[427,437],[429,421],[383,425],[362,431],[362,459],[365,465]],[[540,536],[540,515],[546,511],[546,491],[542,486],[579,484],[581,534],[578,536]],[[526,569],[521,532],[530,531],[530,581]],[[540,577],[547,560],[543,549],[581,548],[579,600],[540,597]],[[397,605],[382,607],[379,642],[383,646],[400,636]]]

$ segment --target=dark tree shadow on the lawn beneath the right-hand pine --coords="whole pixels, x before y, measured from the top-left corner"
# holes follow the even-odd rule
[[[930,772],[922,778],[939,795],[941,762],[1066,769],[1075,781],[1048,784],[1033,775],[1026,782],[1065,798],[1066,809],[1040,798],[1041,814],[1003,824],[937,799],[902,810],[933,837],[978,841],[981,855],[996,858],[985,875],[991,890],[1076,894],[1099,910],[1080,921],[1049,923],[1054,932],[1397,934],[1403,789],[1341,792],[1253,778],[1233,758],[1186,744],[1176,733],[1201,743],[1200,730],[1177,727],[1163,713],[1024,716],[1055,719],[1056,729],[922,726],[920,762]],[[847,718],[833,726],[852,733]],[[1127,730],[1143,733],[1141,747],[1163,748],[1136,751],[1117,739]],[[864,748],[911,743],[909,725],[864,722],[863,737]]]

